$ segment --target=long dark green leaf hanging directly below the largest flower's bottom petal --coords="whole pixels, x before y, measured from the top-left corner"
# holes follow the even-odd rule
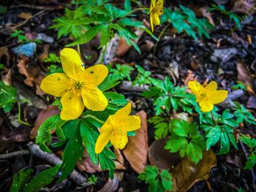
[[[67,145],[64,148],[61,164],[61,177],[59,181],[67,178],[69,173],[75,169],[76,161],[80,160],[83,156],[83,142],[80,135],[80,121],[69,120],[63,126],[63,132],[66,139],[68,139]]]

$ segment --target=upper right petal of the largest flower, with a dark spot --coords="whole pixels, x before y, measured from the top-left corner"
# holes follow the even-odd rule
[[[99,85],[108,75],[108,68],[105,65],[91,66],[85,70],[86,80],[93,83],[94,85]]]

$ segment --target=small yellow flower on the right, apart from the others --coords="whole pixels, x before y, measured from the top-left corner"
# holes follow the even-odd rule
[[[199,82],[189,81],[189,89],[196,96],[202,112],[210,112],[214,108],[214,104],[219,104],[227,98],[227,91],[217,91],[217,82],[210,82],[206,88]]]

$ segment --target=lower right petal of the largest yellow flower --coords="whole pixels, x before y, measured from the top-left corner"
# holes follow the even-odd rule
[[[83,88],[83,103],[89,110],[104,111],[108,106],[108,99],[97,87]]]

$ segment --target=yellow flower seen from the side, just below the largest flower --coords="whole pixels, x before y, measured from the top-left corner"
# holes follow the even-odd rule
[[[100,153],[110,141],[118,149],[123,149],[127,145],[128,131],[134,131],[140,128],[140,118],[135,115],[129,115],[131,104],[127,104],[114,115],[110,115],[102,128],[95,145],[95,153]]]

